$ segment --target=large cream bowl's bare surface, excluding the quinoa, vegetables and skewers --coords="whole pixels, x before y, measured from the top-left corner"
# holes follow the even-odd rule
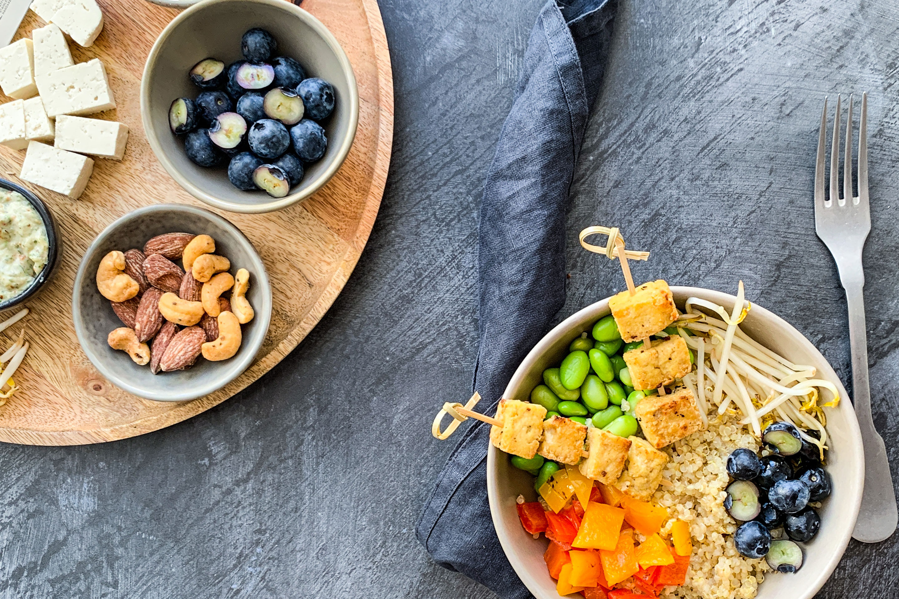
[[[675,286],[672,287],[672,292],[675,302],[681,307],[691,295],[724,306],[733,306],[736,301],[733,295],[697,287]],[[607,298],[572,314],[549,331],[524,358],[503,397],[528,401],[530,390],[540,383],[543,370],[557,365],[565,357],[571,341],[583,331],[589,331],[593,322],[608,313],[610,310]],[[765,582],[759,586],[757,595],[758,599],[810,599],[831,576],[843,551],[846,551],[859,515],[865,480],[859,423],[840,379],[802,333],[758,304],[752,304],[752,310],[741,327],[752,339],[789,360],[814,366],[819,377],[834,383],[841,392],[839,408],[827,410],[827,432],[830,436],[827,471],[833,480],[833,492],[830,498],[824,500],[820,510],[821,531],[811,542],[803,543],[806,552],[803,567],[796,574],[774,573],[766,577]],[[533,477],[513,468],[509,456],[490,445],[487,453],[487,494],[503,551],[521,581],[537,599],[558,599],[556,581],[549,577],[547,565],[543,561],[547,541],[542,537],[535,541],[526,533],[515,509],[515,498],[519,494],[523,494],[529,501],[536,500],[532,485]]]

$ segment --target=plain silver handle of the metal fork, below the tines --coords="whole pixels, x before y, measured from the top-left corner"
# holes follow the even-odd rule
[[[852,352],[852,388],[855,414],[865,447],[865,490],[861,497],[859,519],[852,536],[860,542],[881,542],[896,529],[896,498],[886,446],[877,434],[871,418],[871,390],[868,386],[868,333],[865,329],[864,281],[847,285],[846,304],[849,308],[849,339]]]

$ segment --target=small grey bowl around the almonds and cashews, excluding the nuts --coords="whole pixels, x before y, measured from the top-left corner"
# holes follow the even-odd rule
[[[200,358],[187,370],[152,374],[149,366],[138,366],[128,354],[107,344],[110,331],[124,325],[112,312],[109,300],[100,295],[95,277],[100,260],[110,251],[142,248],[150,237],[172,232],[206,233],[216,240],[216,253],[231,260],[232,273],[236,269],[250,271],[246,297],[255,316],[242,326],[243,343],[235,357],[221,362]],[[203,208],[160,204],[129,212],[93,240],[75,277],[72,317],[85,354],[111,383],[147,400],[187,401],[225,386],[253,363],[271,322],[271,285],[263,260],[235,225]]]

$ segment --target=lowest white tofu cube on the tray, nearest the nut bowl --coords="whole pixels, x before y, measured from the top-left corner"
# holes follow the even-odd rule
[[[92,172],[93,160],[87,156],[32,141],[28,144],[19,177],[77,199],[85,190]]]

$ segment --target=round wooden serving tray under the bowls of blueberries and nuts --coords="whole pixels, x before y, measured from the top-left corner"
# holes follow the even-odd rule
[[[100,0],[105,25],[91,48],[70,44],[76,62],[103,61],[117,110],[99,115],[130,128],[123,161],[98,159],[85,194],[71,200],[18,179],[24,152],[0,150],[0,176],[32,189],[57,218],[64,250],[56,277],[28,305],[31,350],[15,375],[22,391],[0,408],[0,441],[80,445],[142,435],[191,418],[234,395],[287,356],[321,320],[359,260],[378,215],[393,138],[393,78],[376,0],[306,0],[302,7],[343,45],[359,85],[359,129],[343,167],[312,198],[267,215],[217,211],[246,233],[271,277],[271,329],[253,366],[195,401],[147,401],[108,383],[87,360],[72,325],[72,283],[93,237],[134,208],[197,204],[156,162],[140,122],[138,91],[147,52],[178,12],[145,0]],[[44,25],[31,11],[16,34]],[[9,98],[2,97],[2,101]],[[0,333],[8,347],[19,326]]]

